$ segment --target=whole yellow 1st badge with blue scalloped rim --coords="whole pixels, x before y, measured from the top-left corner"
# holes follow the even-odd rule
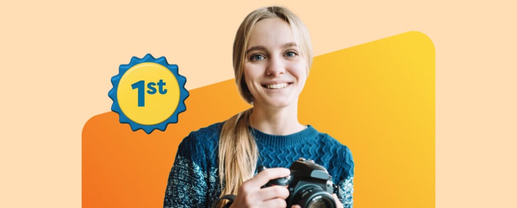
[[[119,115],[120,123],[131,130],[155,129],[165,131],[169,123],[178,122],[178,114],[186,110],[187,79],[178,74],[178,66],[170,65],[165,57],[133,56],[119,73],[111,78],[113,88],[108,93],[113,100],[111,110]]]

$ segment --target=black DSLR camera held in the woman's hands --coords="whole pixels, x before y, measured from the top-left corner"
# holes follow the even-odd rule
[[[258,167],[258,172],[266,169],[264,166]],[[285,199],[287,207],[294,204],[302,208],[323,208],[336,207],[336,201],[332,194],[336,194],[340,200],[343,199],[341,189],[332,184],[332,177],[327,169],[315,164],[312,159],[299,158],[291,167],[291,174],[285,178],[269,181],[264,187],[272,185],[287,186],[289,197]]]

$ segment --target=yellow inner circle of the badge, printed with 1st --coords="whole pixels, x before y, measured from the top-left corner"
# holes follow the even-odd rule
[[[120,78],[118,105],[133,122],[155,125],[171,117],[179,102],[179,85],[166,67],[144,62],[131,67]]]

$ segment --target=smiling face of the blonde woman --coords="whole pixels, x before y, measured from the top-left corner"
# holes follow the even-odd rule
[[[297,104],[307,80],[307,61],[300,56],[287,22],[269,18],[255,24],[246,51],[244,75],[254,105]]]

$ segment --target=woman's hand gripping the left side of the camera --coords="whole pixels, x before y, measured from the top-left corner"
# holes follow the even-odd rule
[[[287,168],[268,168],[261,171],[252,179],[242,183],[230,208],[286,207],[285,199],[289,196],[289,191],[285,186],[261,187],[270,180],[286,177],[290,173]]]

